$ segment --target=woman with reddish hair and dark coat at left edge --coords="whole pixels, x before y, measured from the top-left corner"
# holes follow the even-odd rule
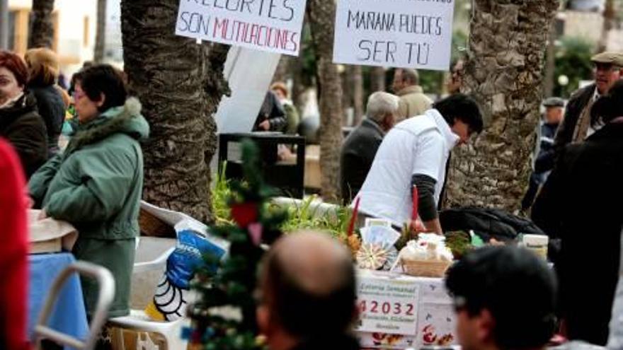
[[[27,81],[23,59],[0,51],[0,136],[15,148],[30,177],[47,160],[47,134],[37,113],[37,100],[26,90]]]

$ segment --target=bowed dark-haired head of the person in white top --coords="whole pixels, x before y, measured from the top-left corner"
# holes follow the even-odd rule
[[[462,93],[450,95],[434,103],[433,108],[440,112],[452,132],[459,136],[459,144],[467,144],[472,134],[482,132],[480,108],[468,95]]]

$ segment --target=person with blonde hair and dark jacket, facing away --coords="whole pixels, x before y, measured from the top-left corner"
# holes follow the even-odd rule
[[[24,55],[28,66],[28,90],[37,98],[39,115],[47,129],[48,156],[59,151],[58,141],[65,119],[65,103],[56,86],[59,74],[58,57],[47,48],[29,49]]]

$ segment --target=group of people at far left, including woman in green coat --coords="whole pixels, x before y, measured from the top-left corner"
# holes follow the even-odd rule
[[[16,235],[3,255],[5,281],[16,288],[10,308],[0,308],[1,349],[26,349],[25,290],[28,231],[26,209],[39,218],[67,221],[79,231],[72,253],[101,265],[115,278],[109,316],[130,313],[130,277],[139,235],[143,153],[149,135],[141,106],[128,98],[125,76],[106,64],[87,65],[72,78],[72,96],[57,85],[59,64],[50,49],[31,49],[25,57],[0,52],[0,166],[2,221]],[[67,110],[75,117],[66,118]],[[72,137],[60,151],[63,129]],[[21,165],[20,165],[21,164]],[[27,183],[27,185],[25,185]],[[88,317],[99,290],[81,278]],[[36,288],[36,286],[31,286]],[[5,305],[5,304],[3,304]],[[9,315],[10,313],[10,315]],[[4,332],[4,331],[3,331]]]

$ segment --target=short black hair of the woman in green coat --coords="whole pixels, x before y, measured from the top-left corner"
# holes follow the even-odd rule
[[[125,104],[127,88],[120,71],[113,66],[98,64],[84,69],[81,74],[80,86],[90,100],[98,101],[101,94],[105,96],[104,104],[98,107],[100,112]]]

